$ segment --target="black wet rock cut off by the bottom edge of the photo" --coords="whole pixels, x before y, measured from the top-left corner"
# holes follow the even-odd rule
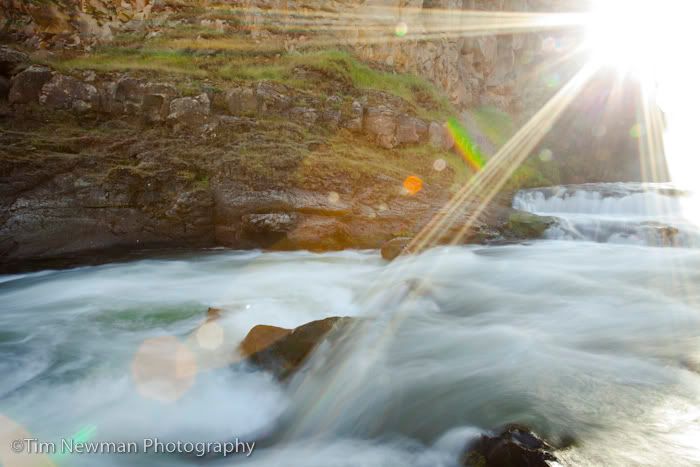
[[[465,467],[549,467],[554,449],[528,428],[508,425],[498,436],[482,435],[468,446]]]

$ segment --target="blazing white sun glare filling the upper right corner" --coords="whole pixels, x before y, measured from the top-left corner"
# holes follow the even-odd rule
[[[700,0],[594,0],[585,45],[597,65],[635,77],[654,96],[672,181],[700,187]]]

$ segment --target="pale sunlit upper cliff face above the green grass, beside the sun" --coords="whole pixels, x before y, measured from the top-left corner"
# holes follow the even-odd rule
[[[495,106],[515,115],[541,106],[576,66],[546,70],[580,42],[580,35],[552,29],[527,33],[503,12],[571,12],[581,0],[247,0],[240,3],[254,34],[319,18],[339,44],[364,60],[421,75],[443,89],[458,108]],[[481,12],[467,15],[466,10]],[[488,13],[493,13],[489,16]],[[504,23],[526,33],[509,34]],[[534,29],[534,28],[533,28]],[[318,31],[310,30],[309,34]],[[580,64],[580,61],[578,62]]]

